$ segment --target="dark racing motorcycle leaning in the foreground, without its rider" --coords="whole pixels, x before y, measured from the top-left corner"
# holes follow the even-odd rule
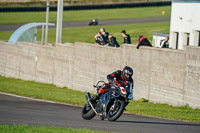
[[[94,87],[98,90],[101,88],[104,81],[99,81]],[[111,88],[102,94],[95,103],[90,102],[91,95],[89,92],[86,94],[87,103],[82,109],[82,118],[90,120],[94,116],[100,116],[101,120],[107,118],[109,121],[116,121],[125,110],[128,104],[127,86],[112,85]]]

